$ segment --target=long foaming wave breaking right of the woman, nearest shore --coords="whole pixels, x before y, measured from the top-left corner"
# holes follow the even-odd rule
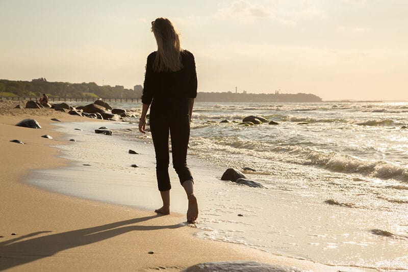
[[[191,139],[192,146],[254,156],[263,159],[276,159],[300,165],[314,165],[338,173],[354,173],[370,178],[393,179],[408,182],[408,170],[384,161],[370,161],[337,152],[323,152],[298,145],[276,145],[262,141],[248,141],[237,137],[215,137],[212,139]],[[223,147],[223,148],[222,148]],[[234,151],[235,150],[235,151]],[[282,156],[285,154],[285,156]],[[279,155],[279,156],[277,156]]]

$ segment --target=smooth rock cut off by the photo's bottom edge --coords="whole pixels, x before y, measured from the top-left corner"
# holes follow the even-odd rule
[[[302,272],[295,267],[272,265],[254,261],[206,262],[187,267],[182,272]]]

